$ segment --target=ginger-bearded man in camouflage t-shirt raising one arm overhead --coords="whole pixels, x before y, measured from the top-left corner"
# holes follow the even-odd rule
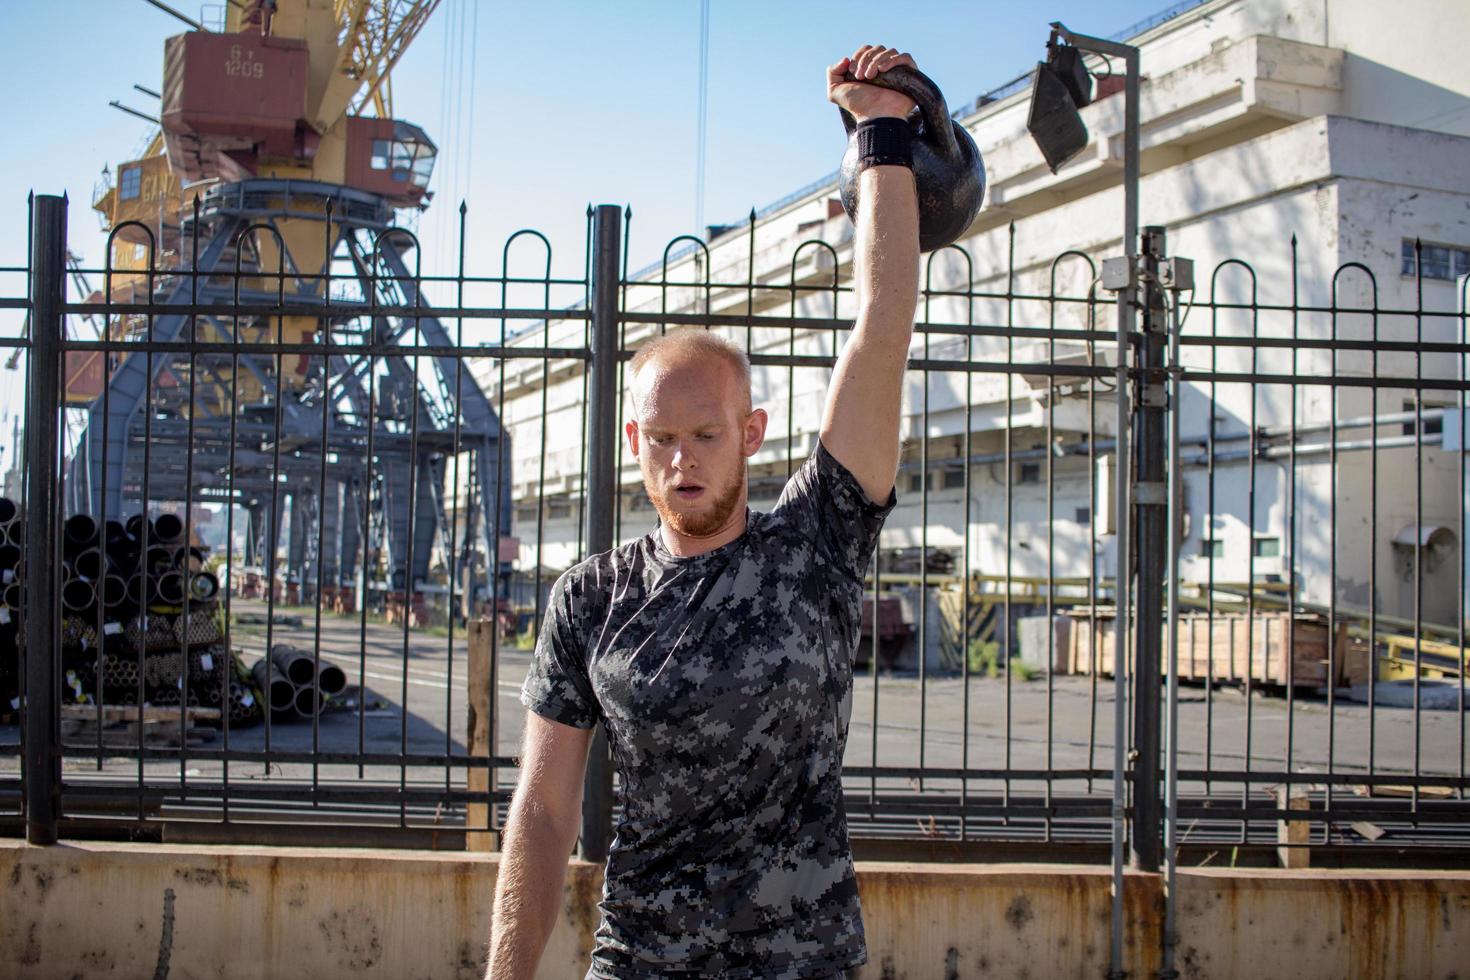
[[[864,84],[897,65],[913,59],[864,46],[828,69],[860,123],[858,314],[820,444],[772,513],[745,505],[766,432],[745,356],[686,331],[632,361],[626,438],[660,523],[553,589],[522,691],[494,980],[534,976],[560,912],[597,721],[623,811],[588,979],[839,977],[867,959],[841,765],[919,287],[913,103]]]

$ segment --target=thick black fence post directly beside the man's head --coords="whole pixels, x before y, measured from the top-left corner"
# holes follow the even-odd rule
[[[617,516],[617,275],[623,213],[598,204],[592,217],[592,360],[588,364],[587,551],[613,547]],[[607,733],[597,726],[582,788],[582,840],[578,857],[603,861],[613,830],[613,765]]]

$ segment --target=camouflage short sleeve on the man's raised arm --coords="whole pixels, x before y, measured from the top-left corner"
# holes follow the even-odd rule
[[[817,442],[776,502],[776,513],[810,525],[819,554],[832,566],[861,579],[878,547],[878,532],[898,504],[888,492],[883,504],[867,500],[857,478]]]

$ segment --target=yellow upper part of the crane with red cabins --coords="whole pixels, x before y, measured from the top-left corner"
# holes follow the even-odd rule
[[[104,170],[93,201],[104,226],[118,229],[115,275],[104,284],[112,298],[143,298],[150,241],[154,273],[179,264],[187,250],[181,216],[218,184],[307,181],[426,207],[437,147],[419,126],[392,118],[392,69],[438,6],[440,0],[235,0],[225,9],[222,31],[191,22],[198,29],[168,38],[160,129],[141,157],[118,165],[116,178]],[[260,270],[323,269],[335,235],[331,228],[323,234],[320,200],[263,203],[278,215],[272,225],[285,254],[275,235],[254,235]],[[110,334],[138,326],[115,323]],[[298,342],[318,322],[285,317],[278,329]],[[78,404],[91,397],[96,385],[68,392]]]

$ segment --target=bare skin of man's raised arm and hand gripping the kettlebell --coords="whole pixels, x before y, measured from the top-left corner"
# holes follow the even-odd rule
[[[883,116],[903,119],[913,101],[860,81],[907,54],[864,46],[828,69],[828,98],[861,125]],[[898,414],[904,366],[919,303],[919,200],[913,170],[870,166],[858,173],[853,273],[857,322],[838,357],[822,416],[822,445],[845,466],[867,498],[883,504],[898,475]]]

